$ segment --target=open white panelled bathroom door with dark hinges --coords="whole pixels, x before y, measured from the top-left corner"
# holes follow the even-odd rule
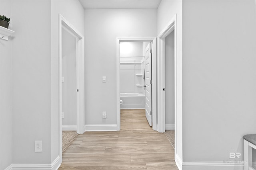
[[[152,126],[152,74],[151,74],[151,43],[146,47],[146,56],[145,56],[145,94],[146,94],[146,117],[148,123]]]

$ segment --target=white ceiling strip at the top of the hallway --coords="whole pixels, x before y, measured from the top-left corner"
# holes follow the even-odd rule
[[[161,0],[79,0],[84,9],[157,9]]]

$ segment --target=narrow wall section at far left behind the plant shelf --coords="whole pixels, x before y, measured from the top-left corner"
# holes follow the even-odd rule
[[[11,18],[10,1],[0,0],[0,15]],[[12,29],[12,18],[9,29]],[[12,163],[12,40],[0,39],[0,169]]]

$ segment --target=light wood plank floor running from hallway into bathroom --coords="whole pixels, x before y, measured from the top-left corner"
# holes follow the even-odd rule
[[[144,109],[121,110],[121,130],[78,135],[60,170],[178,170],[164,133],[148,125]]]

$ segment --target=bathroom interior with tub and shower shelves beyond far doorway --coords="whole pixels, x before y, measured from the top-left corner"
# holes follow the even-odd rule
[[[150,42],[120,42],[120,108],[145,109],[145,55]]]

